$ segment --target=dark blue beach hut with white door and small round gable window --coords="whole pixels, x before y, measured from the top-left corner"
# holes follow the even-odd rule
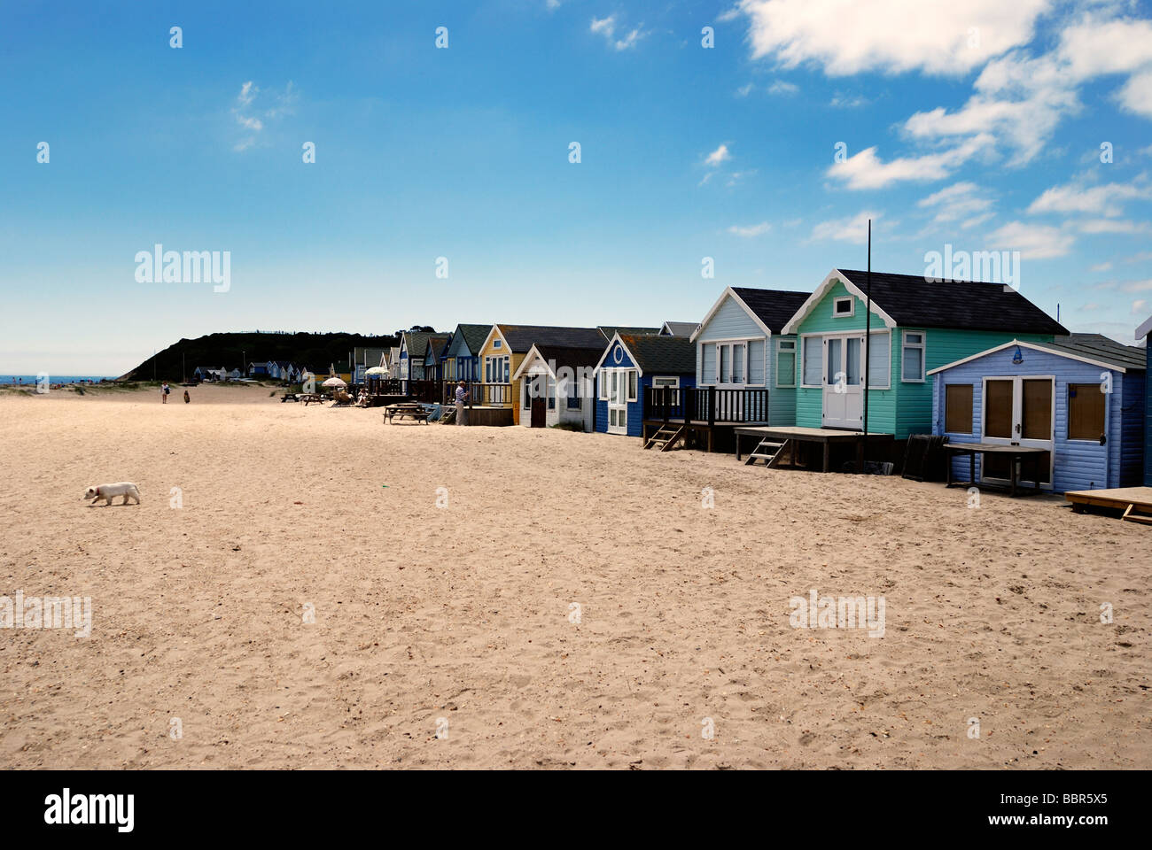
[[[596,430],[642,437],[650,418],[646,390],[695,387],[696,348],[687,336],[615,334],[600,354],[593,377]]]

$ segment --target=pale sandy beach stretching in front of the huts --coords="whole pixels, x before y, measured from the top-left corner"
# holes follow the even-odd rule
[[[180,392],[0,394],[0,595],[92,600],[0,629],[3,767],[1152,767],[1147,528]]]

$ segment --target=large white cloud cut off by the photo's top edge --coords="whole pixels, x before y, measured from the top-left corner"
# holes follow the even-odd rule
[[[742,0],[753,59],[861,71],[960,75],[1028,44],[1049,0]],[[975,28],[975,30],[973,30]]]

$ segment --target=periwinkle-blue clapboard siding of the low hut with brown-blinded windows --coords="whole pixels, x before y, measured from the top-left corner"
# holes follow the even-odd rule
[[[1015,349],[995,351],[963,363],[934,375],[932,386],[932,433],[942,434],[957,442],[973,442],[983,439],[983,390],[984,378],[1011,378],[1016,375],[1054,375],[1055,404],[1054,451],[1052,488],[1058,493],[1069,489],[1098,489],[1126,486],[1126,475],[1132,477],[1139,469],[1139,458],[1134,458],[1130,448],[1136,433],[1143,430],[1143,415],[1134,405],[1124,402],[1126,394],[1144,392],[1144,375],[1140,372],[1124,374],[1111,372],[1112,394],[1106,405],[1106,446],[1094,440],[1068,439],[1068,385],[1090,384],[1100,386],[1101,372],[1107,370],[1081,361],[1062,357],[1047,351],[1023,349],[1023,363],[1014,364]],[[972,387],[972,432],[950,433],[945,431],[945,399],[948,385],[965,384]],[[1136,416],[1134,417],[1134,413]],[[1136,422],[1134,422],[1134,418]],[[1126,450],[1126,439],[1129,448]],[[1127,472],[1126,472],[1127,470]],[[968,477],[968,458],[957,457],[953,465],[960,478]],[[977,460],[977,475],[983,475]]]

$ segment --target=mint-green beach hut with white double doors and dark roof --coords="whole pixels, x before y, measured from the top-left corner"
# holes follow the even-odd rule
[[[909,434],[931,433],[930,370],[1011,340],[1052,342],[1068,334],[1001,283],[872,272],[866,344],[866,278],[865,272],[834,268],[782,328],[799,341],[795,390],[799,428],[859,432],[867,374],[870,433],[890,435],[893,443]]]

